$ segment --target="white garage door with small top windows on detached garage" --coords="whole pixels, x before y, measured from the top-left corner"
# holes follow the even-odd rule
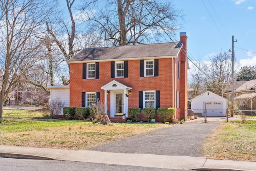
[[[204,102],[204,109],[207,109],[207,116],[223,116],[222,101]]]

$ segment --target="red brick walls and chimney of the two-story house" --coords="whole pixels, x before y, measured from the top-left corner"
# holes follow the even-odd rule
[[[174,58],[174,107],[176,107],[176,91],[180,91],[180,108],[176,109],[176,118],[184,119],[184,108],[187,107],[187,68],[186,36],[181,36],[184,43],[178,58]],[[183,54],[183,53],[184,54]],[[177,65],[180,62],[180,79]],[[100,91],[100,99],[104,100],[103,85],[118,80],[132,87],[129,95],[129,106],[138,107],[138,91],[160,90],[160,107],[172,107],[172,58],[159,59],[158,77],[140,77],[140,60],[129,60],[128,78],[110,78],[110,62],[100,62],[99,79],[82,79],[82,63],[70,64],[70,106],[80,107],[82,92]],[[107,113],[110,115],[110,95],[107,97]],[[142,115],[140,119],[143,119]],[[144,120],[144,119],[143,119]]]

